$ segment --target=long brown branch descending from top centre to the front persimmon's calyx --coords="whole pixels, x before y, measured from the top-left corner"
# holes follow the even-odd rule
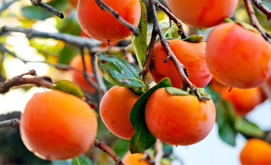
[[[150,4],[150,8],[151,8],[151,14],[152,14],[152,20],[153,20],[153,32],[157,32],[160,40],[161,40],[161,45],[164,47],[168,57],[165,59],[164,62],[167,62],[167,59],[171,59],[171,61],[173,62],[173,64],[175,65],[176,70],[178,71],[181,80],[182,80],[182,84],[183,84],[183,90],[187,90],[188,88],[190,88],[190,93],[195,94],[199,100],[203,101],[203,100],[210,100],[206,97],[201,96],[201,94],[198,91],[198,88],[193,85],[189,79],[188,79],[188,71],[187,69],[184,67],[184,65],[176,58],[176,56],[174,55],[174,53],[172,52],[172,50],[170,49],[169,46],[169,42],[167,40],[167,38],[163,35],[163,32],[159,26],[159,22],[158,22],[158,18],[157,18],[157,13],[155,10],[156,7],[156,0],[148,0],[149,4]],[[148,54],[148,56],[151,54]],[[151,58],[151,57],[147,57],[147,58]],[[146,65],[146,64],[145,64]],[[145,67],[145,66],[144,66]],[[146,66],[148,67],[148,66]]]

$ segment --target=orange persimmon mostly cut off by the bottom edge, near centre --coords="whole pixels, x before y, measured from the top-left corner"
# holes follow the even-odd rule
[[[130,164],[130,165],[148,165],[148,161],[146,160],[141,160],[143,157],[143,153],[139,154],[131,154],[131,152],[127,152],[123,158],[122,162],[124,164]]]

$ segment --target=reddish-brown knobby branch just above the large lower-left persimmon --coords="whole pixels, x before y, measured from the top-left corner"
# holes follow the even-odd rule
[[[33,77],[33,78],[23,78],[25,75],[31,75],[35,76],[36,71],[35,70],[30,70],[27,73],[24,73],[20,76],[16,76],[12,79],[9,79],[6,82],[0,83],[0,94],[7,93],[10,88],[14,86],[19,86],[19,85],[25,85],[25,84],[33,84],[37,86],[44,86],[46,88],[51,88],[53,85],[51,82],[51,78],[49,77]]]

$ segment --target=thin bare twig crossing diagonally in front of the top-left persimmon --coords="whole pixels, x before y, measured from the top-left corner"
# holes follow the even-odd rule
[[[101,9],[103,10],[107,10],[109,13],[111,13],[115,18],[117,18],[117,20],[124,26],[126,26],[127,28],[129,28],[136,36],[139,35],[139,30],[137,27],[133,26],[132,24],[130,24],[129,22],[127,22],[126,20],[124,20],[119,13],[117,13],[116,11],[114,11],[110,6],[108,6],[107,4],[104,3],[104,1],[102,0],[95,0],[96,3],[99,5],[99,7],[101,7]]]

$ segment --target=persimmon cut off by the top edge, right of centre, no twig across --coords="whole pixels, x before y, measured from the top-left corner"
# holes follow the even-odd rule
[[[232,16],[238,0],[168,0],[167,3],[182,22],[198,28],[210,28]]]

